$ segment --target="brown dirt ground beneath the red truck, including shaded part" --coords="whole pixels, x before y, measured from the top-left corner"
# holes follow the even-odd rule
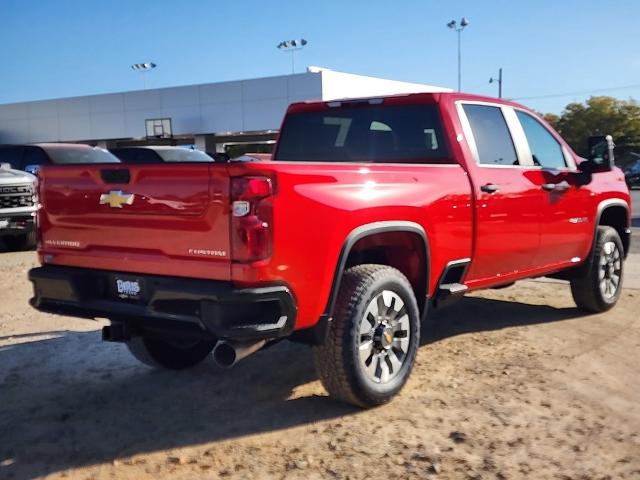
[[[97,322],[32,310],[34,260],[0,253],[1,479],[640,478],[640,290],[603,315],[557,282],[470,295],[434,316],[402,394],[362,411],[288,342],[146,368]]]

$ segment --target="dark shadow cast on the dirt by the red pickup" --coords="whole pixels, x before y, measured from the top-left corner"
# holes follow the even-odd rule
[[[579,315],[464,298],[436,312],[422,343]],[[65,332],[0,347],[0,478],[33,478],[185,446],[215,450],[225,439],[366,415],[322,395],[317,384],[306,386],[317,376],[310,349],[301,345],[282,342],[233,370],[207,361],[175,373],[140,366],[123,345],[99,337]]]

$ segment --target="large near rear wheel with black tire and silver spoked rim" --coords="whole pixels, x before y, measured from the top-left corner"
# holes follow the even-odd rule
[[[400,325],[402,322],[405,325],[402,328],[403,332],[408,334],[408,342],[403,345],[406,352],[395,347],[396,343],[402,343],[402,338],[406,338],[403,332],[392,333],[391,327],[388,326],[389,330],[382,327],[383,333],[380,334],[380,325],[376,330],[375,325],[364,324],[366,321],[371,323],[371,320],[368,320],[372,318],[371,310],[368,309],[372,308],[374,301],[377,302],[377,308],[381,308],[379,299],[383,292],[392,292],[394,295],[393,300],[389,301],[390,306],[386,305],[384,299],[383,302],[387,307],[389,323],[395,322],[396,325]],[[401,302],[396,302],[396,296]],[[401,305],[400,311],[394,310],[396,303]],[[314,347],[316,368],[325,389],[332,397],[359,407],[374,407],[388,402],[407,382],[420,342],[420,315],[411,284],[401,272],[386,265],[367,264],[352,267],[342,276],[334,313],[326,341]],[[395,320],[392,317],[395,317]],[[408,320],[405,317],[408,317]],[[360,353],[365,343],[363,338],[369,335],[362,334],[362,329],[369,327],[372,345],[369,366],[373,366],[374,361],[378,362],[373,373],[367,373],[366,360],[361,359]],[[377,336],[375,332],[378,332]],[[400,333],[403,333],[403,336],[398,336]],[[379,338],[382,342],[383,336],[387,346],[380,348],[387,350],[376,354],[378,347],[374,339]],[[401,362],[401,366],[393,367],[393,372],[391,355],[395,355]],[[386,367],[382,365],[383,361]],[[381,373],[380,380],[376,382],[372,376],[382,370],[382,367],[387,370],[387,378],[392,374],[393,377],[383,381]]]

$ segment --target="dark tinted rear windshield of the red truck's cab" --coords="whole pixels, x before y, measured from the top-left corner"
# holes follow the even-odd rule
[[[435,105],[368,103],[289,114],[275,159],[450,163]]]

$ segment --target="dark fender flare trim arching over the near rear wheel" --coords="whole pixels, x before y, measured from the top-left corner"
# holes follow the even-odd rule
[[[345,266],[349,254],[353,249],[353,246],[361,239],[369,237],[371,235],[377,235],[379,233],[389,232],[407,232],[417,234],[423,241],[425,263],[426,263],[426,279],[427,279],[427,293],[429,292],[430,282],[430,267],[431,267],[431,251],[429,249],[429,238],[427,237],[424,228],[418,223],[409,222],[405,220],[390,220],[382,222],[367,223],[353,229],[342,244],[342,249],[338,255],[338,262],[333,274],[333,281],[331,283],[331,290],[329,291],[329,298],[327,300],[326,307],[319,323],[328,323],[333,317],[333,311],[335,308],[336,300],[338,298],[338,292],[340,290],[340,283],[342,280],[342,274],[344,273]],[[418,299],[420,301],[420,299]],[[426,309],[426,300],[424,302]]]

